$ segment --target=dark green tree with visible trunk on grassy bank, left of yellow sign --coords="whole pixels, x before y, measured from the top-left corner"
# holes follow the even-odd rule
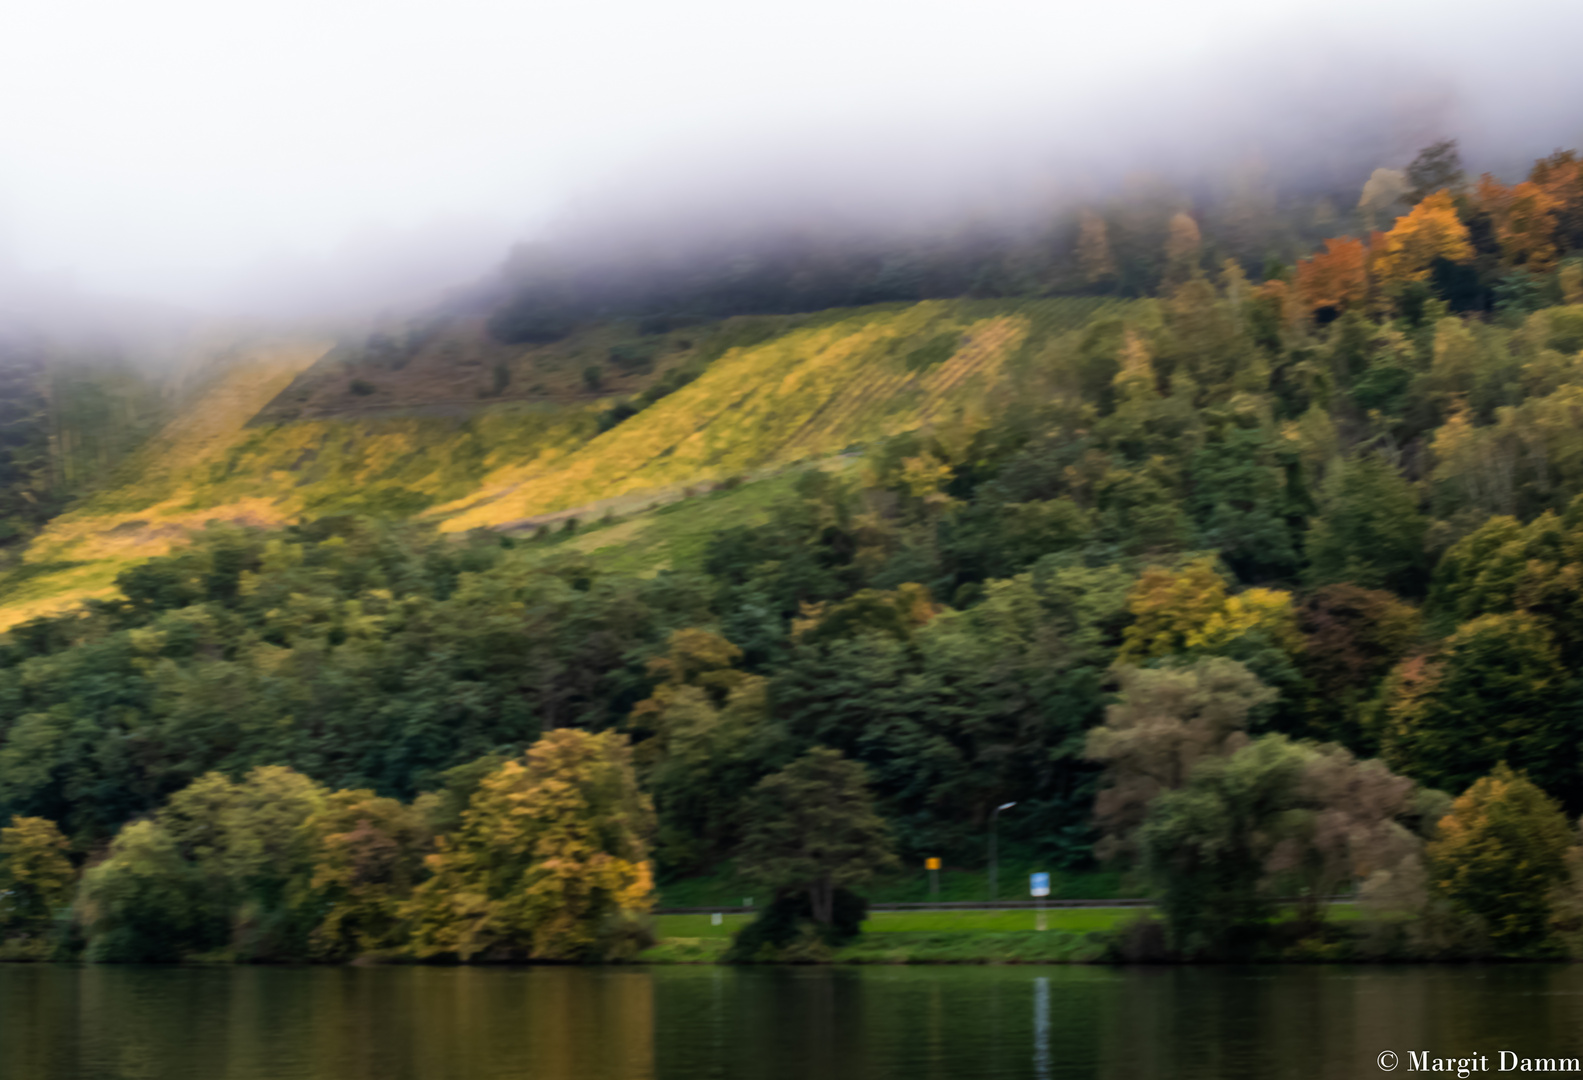
[[[780,893],[806,892],[820,925],[834,918],[837,888],[863,888],[896,866],[866,770],[828,747],[758,781],[742,827],[739,871]]]

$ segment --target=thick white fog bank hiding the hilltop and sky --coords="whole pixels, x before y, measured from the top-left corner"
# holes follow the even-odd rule
[[[1442,136],[1509,174],[1583,143],[1580,24],[1562,0],[13,0],[0,287],[326,315],[616,222],[1037,214],[1251,163],[1342,185]]]

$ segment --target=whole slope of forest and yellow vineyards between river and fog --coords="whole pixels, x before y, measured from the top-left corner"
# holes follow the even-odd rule
[[[1251,955],[1277,896],[1338,955],[1338,890],[1369,955],[1583,952],[1583,163],[1369,184],[1388,230],[1295,266],[1183,209],[1126,302],[655,325],[644,361],[518,298],[483,388],[545,390],[470,416],[261,355],[30,550],[116,581],[5,637],[0,846],[93,863],[104,958],[617,955],[651,871],[733,858],[839,922],[792,849],[845,819],[852,884],[991,822],[1122,868],[1140,955]]]

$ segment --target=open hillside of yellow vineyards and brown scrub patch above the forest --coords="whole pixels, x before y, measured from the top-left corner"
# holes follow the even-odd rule
[[[209,521],[361,513],[527,530],[640,513],[899,431],[972,429],[997,394],[1054,386],[1108,307],[929,301],[659,336],[592,325],[526,347],[457,318],[400,344],[252,344],[44,527],[0,583],[0,627],[104,595]]]

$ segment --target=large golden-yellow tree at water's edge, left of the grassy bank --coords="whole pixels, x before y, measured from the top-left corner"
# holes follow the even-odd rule
[[[560,728],[480,784],[407,906],[419,956],[614,958],[652,901],[654,809],[614,732]]]

